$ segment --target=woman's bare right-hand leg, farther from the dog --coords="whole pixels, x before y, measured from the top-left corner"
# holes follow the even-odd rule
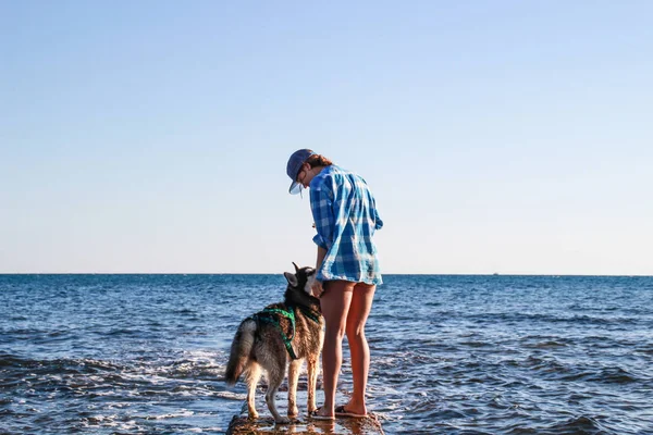
[[[346,333],[352,352],[354,391],[345,408],[357,414],[367,414],[365,391],[370,369],[370,348],[365,336],[365,325],[372,308],[375,289],[377,286],[373,285],[356,284],[347,315]]]

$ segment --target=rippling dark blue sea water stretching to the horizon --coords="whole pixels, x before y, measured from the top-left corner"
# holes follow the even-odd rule
[[[653,434],[653,277],[384,279],[367,335],[386,434]],[[245,398],[222,380],[235,328],[284,289],[0,275],[0,433],[224,433]],[[350,385],[345,362],[342,400]]]

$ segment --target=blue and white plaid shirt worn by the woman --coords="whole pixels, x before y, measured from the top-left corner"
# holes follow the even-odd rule
[[[333,164],[316,175],[309,187],[318,232],[313,241],[326,250],[317,278],[381,284],[372,236],[383,221],[365,179]]]

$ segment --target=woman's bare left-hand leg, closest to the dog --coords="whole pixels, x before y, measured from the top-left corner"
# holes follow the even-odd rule
[[[343,363],[343,337],[355,283],[329,281],[324,285],[324,294],[320,298],[325,324],[322,349],[324,405],[319,412],[321,415],[334,415],[335,389]]]

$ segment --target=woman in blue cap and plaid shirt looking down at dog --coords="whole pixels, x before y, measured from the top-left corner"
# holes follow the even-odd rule
[[[312,415],[333,420],[335,415],[365,417],[365,391],[370,349],[365,325],[372,308],[381,273],[372,236],[383,226],[374,197],[359,175],[346,171],[308,149],[295,151],[286,172],[291,194],[310,187],[310,208],[317,235],[318,270],[313,294],[320,297],[324,316],[322,373],[324,405]],[[335,405],[335,389],[342,365],[342,341],[347,334],[352,353],[354,391],[345,405]]]

